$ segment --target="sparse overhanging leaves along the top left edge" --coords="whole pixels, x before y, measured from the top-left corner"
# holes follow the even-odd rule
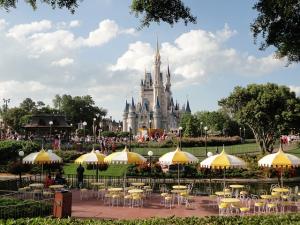
[[[75,12],[75,9],[78,7],[78,2],[82,0],[40,0],[41,3],[50,5],[53,9],[56,8],[66,8],[71,13]],[[4,8],[6,11],[9,11],[11,8],[16,8],[18,0],[0,0],[0,8]],[[36,0],[26,0],[26,3],[30,4],[32,8],[37,9]]]

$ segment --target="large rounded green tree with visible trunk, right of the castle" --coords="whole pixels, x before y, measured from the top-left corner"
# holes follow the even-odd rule
[[[281,133],[300,126],[300,99],[286,86],[272,83],[237,86],[219,105],[252,130],[263,153],[273,151]]]

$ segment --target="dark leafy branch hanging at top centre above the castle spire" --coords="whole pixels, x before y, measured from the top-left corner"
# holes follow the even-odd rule
[[[142,15],[140,28],[149,27],[151,22],[160,21],[170,25],[183,20],[185,25],[196,23],[196,17],[190,13],[181,0],[132,0],[131,13]]]

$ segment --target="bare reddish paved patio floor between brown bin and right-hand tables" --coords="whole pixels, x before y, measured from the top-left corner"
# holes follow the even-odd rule
[[[172,209],[167,209],[160,204],[160,196],[152,195],[151,200],[147,199],[144,207],[130,208],[128,206],[107,206],[103,200],[96,197],[80,200],[78,190],[72,191],[72,217],[79,218],[104,218],[104,219],[135,219],[147,217],[169,217],[169,216],[210,216],[218,215],[218,209],[208,207],[207,197],[197,196],[195,198],[194,209],[186,209],[185,205],[175,204]]]

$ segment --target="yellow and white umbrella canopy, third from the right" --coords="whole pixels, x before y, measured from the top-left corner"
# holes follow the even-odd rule
[[[181,151],[179,147],[175,151],[168,152],[159,158],[159,163],[162,165],[176,165],[197,163],[198,159],[189,152]]]

